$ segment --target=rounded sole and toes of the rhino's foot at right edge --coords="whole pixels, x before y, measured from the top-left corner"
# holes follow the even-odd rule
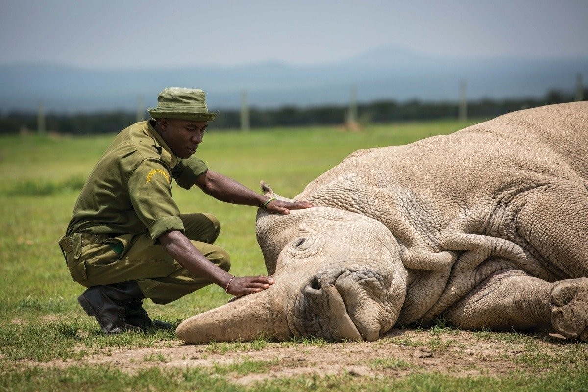
[[[552,326],[557,333],[588,342],[588,279],[557,283],[550,302]]]

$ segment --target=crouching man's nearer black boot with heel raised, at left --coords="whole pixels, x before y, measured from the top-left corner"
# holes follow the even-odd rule
[[[122,282],[89,287],[78,297],[78,302],[89,316],[96,318],[105,333],[121,333],[140,330],[126,320],[124,304],[143,298],[136,282]]]

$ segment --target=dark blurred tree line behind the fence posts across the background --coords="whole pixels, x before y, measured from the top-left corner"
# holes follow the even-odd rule
[[[583,90],[588,96],[588,89]],[[513,99],[477,99],[467,103],[467,115],[472,118],[492,118],[515,110],[572,102],[576,95],[559,90],[552,90],[540,98]],[[376,100],[359,103],[357,106],[359,123],[386,123],[406,120],[433,120],[457,118],[457,102],[427,102],[409,100]],[[323,105],[302,108],[299,106],[282,106],[275,109],[250,108],[249,123],[252,129],[276,126],[311,126],[341,125],[346,122],[348,114],[346,105]],[[239,129],[240,110],[218,110],[214,122],[215,129]],[[89,135],[93,133],[114,133],[126,128],[136,121],[132,112],[96,112],[45,115],[45,127],[52,132],[71,135]],[[37,129],[37,113],[8,112],[0,115],[0,134],[34,132]]]

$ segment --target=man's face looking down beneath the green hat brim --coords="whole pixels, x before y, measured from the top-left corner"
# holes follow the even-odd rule
[[[206,121],[162,118],[158,130],[173,154],[186,159],[196,152],[207,126]]]

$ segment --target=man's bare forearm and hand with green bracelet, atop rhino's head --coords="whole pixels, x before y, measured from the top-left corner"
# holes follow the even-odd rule
[[[263,207],[263,204],[270,200],[268,196],[260,195],[235,180],[223,176],[220,173],[213,172],[210,169],[198,176],[196,179],[196,185],[198,185],[203,192],[221,202]],[[309,202],[290,203],[282,200],[272,200],[267,206],[265,206],[266,210],[270,213],[279,212],[282,214],[288,214],[290,213],[290,210],[309,207],[312,207],[312,204]]]

